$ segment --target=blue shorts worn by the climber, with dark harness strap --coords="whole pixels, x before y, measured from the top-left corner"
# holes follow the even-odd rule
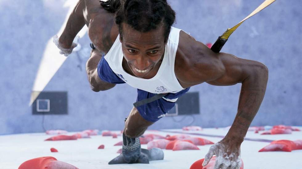
[[[108,83],[115,83],[115,84],[121,84],[125,83],[119,75],[114,73],[110,66],[108,65],[108,62],[104,59],[104,56],[100,60],[98,66],[97,66],[98,75],[101,80],[108,82]],[[169,93],[164,98],[160,98],[154,102],[147,103],[142,106],[138,106],[137,110],[141,114],[141,116],[151,122],[158,121],[162,117],[166,115],[166,113],[169,112],[170,109],[172,109],[175,105],[175,102],[173,102],[173,99],[182,96],[187,91],[189,91],[189,88],[186,88],[182,91],[179,91],[177,93]],[[145,90],[137,89],[137,102],[141,101],[146,98],[153,97],[154,93],[147,92]]]

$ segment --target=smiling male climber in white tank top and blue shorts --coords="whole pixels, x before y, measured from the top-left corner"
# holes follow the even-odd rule
[[[130,111],[125,120],[122,154],[114,163],[152,160],[141,150],[139,136],[164,117],[191,86],[242,83],[235,120],[221,141],[210,147],[206,165],[216,155],[215,169],[239,168],[240,145],[266,90],[268,70],[262,63],[212,52],[184,31],[171,27],[175,12],[166,0],[80,0],[55,44],[68,56],[76,34],[86,24],[93,44],[86,64],[93,91],[119,83],[137,88],[137,101],[154,98]],[[149,154],[150,155],[150,154]]]

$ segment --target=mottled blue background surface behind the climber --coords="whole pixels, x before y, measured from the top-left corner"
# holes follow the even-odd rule
[[[0,1],[0,134],[43,132],[43,116],[31,115],[28,103],[45,45],[67,15],[64,2]],[[190,32],[203,43],[213,43],[262,0],[170,2],[177,13],[175,27]],[[245,21],[222,49],[260,61],[269,69],[267,92],[252,125],[302,125],[301,6],[300,0],[277,0]],[[68,57],[45,88],[45,91],[68,91],[69,104],[68,115],[45,116],[46,129],[123,129],[124,118],[136,100],[136,89],[122,84],[99,93],[90,90],[85,72],[89,42],[87,35],[80,39],[82,50]],[[194,86],[191,91],[200,92],[201,114],[165,117],[151,129],[231,125],[240,86]]]

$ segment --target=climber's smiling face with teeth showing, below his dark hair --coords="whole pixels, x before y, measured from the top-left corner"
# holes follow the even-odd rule
[[[133,74],[144,78],[150,72],[156,71],[154,67],[159,66],[157,63],[165,52],[164,26],[142,33],[127,24],[122,24],[122,33],[124,58]]]

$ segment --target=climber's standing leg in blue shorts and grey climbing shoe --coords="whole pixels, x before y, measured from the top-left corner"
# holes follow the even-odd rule
[[[151,160],[164,159],[164,153],[160,148],[153,148],[151,150],[141,149],[139,136],[144,134],[150,125],[164,117],[175,105],[176,98],[188,90],[189,88],[178,93],[170,93],[166,95],[167,98],[160,98],[133,108],[129,117],[125,120],[122,153],[120,156],[112,159],[109,164],[149,163]],[[156,94],[137,89],[137,102],[151,98],[154,95]]]

